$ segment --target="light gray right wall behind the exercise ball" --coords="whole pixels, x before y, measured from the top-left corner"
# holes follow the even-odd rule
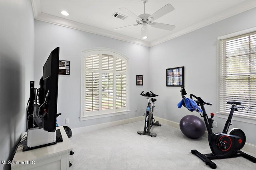
[[[157,116],[175,122],[185,115],[199,115],[185,107],[178,109],[180,87],[166,87],[166,68],[185,67],[185,88],[188,94],[195,94],[212,103],[206,106],[208,113],[218,110],[218,65],[217,37],[256,26],[256,8],[187,33],[150,48],[150,88],[159,94]],[[214,117],[222,132],[226,119]],[[232,121],[231,128],[240,128],[246,133],[246,141],[256,145],[255,124]]]

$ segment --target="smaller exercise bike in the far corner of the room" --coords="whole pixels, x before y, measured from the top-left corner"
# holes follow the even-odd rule
[[[158,121],[155,121],[153,115],[154,115],[154,107],[155,107],[155,102],[156,99],[153,97],[158,96],[157,94],[154,94],[153,92],[146,92],[145,94],[143,93],[144,91],[142,91],[140,93],[141,96],[147,97],[148,99],[148,106],[146,107],[146,113],[144,113],[145,115],[145,123],[144,123],[144,131],[138,131],[138,134],[142,134],[142,135],[149,135],[151,137],[156,137],[156,133],[151,133],[150,129],[153,125],[156,126],[161,126],[161,123],[159,123]],[[152,104],[151,104],[151,102]]]

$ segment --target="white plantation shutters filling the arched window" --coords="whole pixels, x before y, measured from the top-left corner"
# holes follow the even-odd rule
[[[115,53],[85,54],[84,116],[127,109],[126,67],[127,60]]]

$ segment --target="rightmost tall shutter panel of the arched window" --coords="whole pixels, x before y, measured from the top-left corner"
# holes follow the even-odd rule
[[[126,107],[126,62],[116,57],[116,108]]]

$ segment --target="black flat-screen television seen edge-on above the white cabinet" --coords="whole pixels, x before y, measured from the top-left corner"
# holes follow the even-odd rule
[[[55,132],[58,101],[58,70],[60,48],[54,49],[43,67],[40,80],[39,103],[42,106],[40,115],[44,115],[44,130]]]

